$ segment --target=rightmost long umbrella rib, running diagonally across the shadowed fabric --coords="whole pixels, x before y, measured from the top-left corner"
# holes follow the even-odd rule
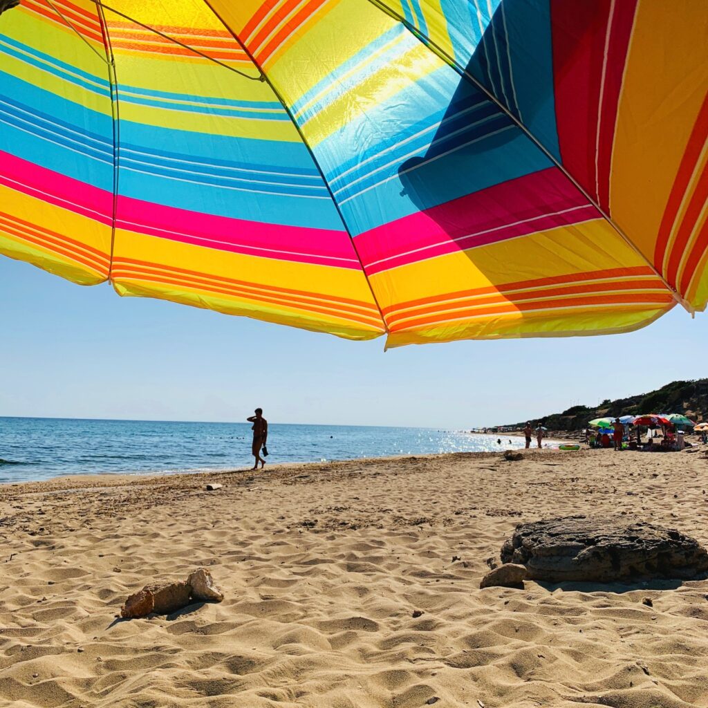
[[[559,163],[558,160],[556,160],[555,156],[552,155],[545,147],[544,145],[539,142],[539,140],[535,137],[535,135],[530,132],[530,130],[525,127],[523,122],[520,122],[516,116],[506,108],[506,105],[503,105],[501,101],[493,94],[491,91],[486,89],[486,87],[481,84],[472,74],[467,72],[467,69],[464,69],[464,67],[460,66],[455,59],[450,57],[450,55],[445,52],[445,50],[442,49],[439,45],[437,45],[435,42],[433,42],[432,39],[430,39],[427,35],[423,35],[423,33],[420,32],[415,26],[411,25],[409,21],[406,20],[406,18],[402,17],[397,13],[396,11],[392,10],[388,6],[384,5],[382,0],[368,0],[373,6],[379,8],[380,11],[386,13],[389,17],[393,18],[394,20],[400,22],[404,27],[409,30],[411,34],[413,34],[416,39],[418,39],[423,45],[428,47],[429,50],[434,52],[440,59],[442,59],[445,64],[448,64],[452,69],[455,69],[455,71],[460,74],[463,78],[467,79],[468,81],[471,81],[474,86],[479,89],[479,91],[482,91],[482,93],[487,96],[487,98],[490,99],[490,101],[493,101],[493,103],[497,106],[497,108],[500,108],[503,113],[506,114],[510,120],[513,120],[514,124],[520,128],[520,130],[523,131],[524,135],[526,135],[532,142],[538,147],[547,158],[552,161],[552,163],[559,169],[561,170],[564,175],[569,178],[569,180],[573,183],[573,185],[576,186],[576,188],[580,191],[580,193],[590,202],[591,205],[595,207],[595,209],[600,212],[600,214],[603,216],[603,218],[607,221],[607,223],[612,226],[613,229],[619,234],[619,236],[622,237],[622,239],[627,243],[627,245],[634,251],[647,265],[649,265],[649,268],[653,270],[654,275],[663,282],[663,285],[666,287],[666,290],[671,293],[673,299],[675,299],[676,302],[679,304],[683,305],[684,309],[687,310],[687,312],[690,312],[690,314],[695,313],[695,308],[692,307],[692,305],[687,302],[687,300],[683,297],[681,297],[678,292],[675,290],[674,287],[671,287],[666,280],[666,278],[659,273],[659,271],[656,269],[656,266],[647,258],[644,253],[642,253],[635,245],[632,239],[627,236],[627,234],[624,233],[621,227],[619,227],[618,224],[615,223],[615,220],[610,217],[609,214],[605,212],[603,207],[601,207],[593,198],[586,192],[586,190],[583,189],[583,187],[576,181],[576,178],[574,178],[569,171],[565,169],[565,167]]]

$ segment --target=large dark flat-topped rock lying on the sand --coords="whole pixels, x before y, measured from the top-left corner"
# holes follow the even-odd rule
[[[501,560],[525,565],[527,580],[552,583],[692,578],[708,571],[708,552],[695,539],[656,524],[607,516],[520,524],[504,542]]]

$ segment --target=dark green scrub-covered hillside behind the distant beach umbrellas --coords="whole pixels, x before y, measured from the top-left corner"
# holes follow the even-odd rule
[[[708,421],[708,379],[672,381],[647,394],[625,399],[607,399],[599,406],[572,406],[562,413],[552,413],[531,421],[549,430],[582,430],[594,418],[605,416],[639,416],[644,413],[683,413],[698,423]],[[523,428],[526,421],[513,427]]]

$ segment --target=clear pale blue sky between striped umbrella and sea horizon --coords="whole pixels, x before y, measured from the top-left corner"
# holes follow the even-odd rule
[[[0,416],[470,428],[708,375],[708,316],[638,332],[466,341],[384,353],[79,287],[0,256]]]

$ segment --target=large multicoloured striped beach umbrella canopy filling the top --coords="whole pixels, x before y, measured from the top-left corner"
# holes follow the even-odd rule
[[[388,346],[703,309],[705,29],[700,2],[23,0],[0,253]]]

